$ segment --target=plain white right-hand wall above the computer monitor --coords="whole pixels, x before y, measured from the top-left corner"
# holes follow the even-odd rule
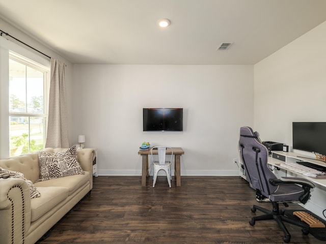
[[[326,22],[254,66],[254,130],[292,146],[292,121],[326,121]]]

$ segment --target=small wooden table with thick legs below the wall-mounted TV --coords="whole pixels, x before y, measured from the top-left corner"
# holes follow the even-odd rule
[[[172,147],[174,155],[174,170],[177,181],[177,187],[181,187],[180,174],[180,157],[184,154],[181,147]],[[138,154],[142,156],[142,186],[146,187],[146,177],[148,176],[148,155],[151,155],[151,150],[139,150]],[[153,154],[157,154],[157,150],[153,150]],[[167,149],[166,154],[171,154],[171,150]]]

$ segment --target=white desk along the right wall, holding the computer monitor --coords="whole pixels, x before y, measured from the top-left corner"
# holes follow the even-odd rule
[[[315,188],[311,189],[311,197],[306,204],[301,204],[301,206],[306,209],[312,211],[314,214],[319,216],[320,218],[326,220],[323,216],[323,210],[326,209],[326,179],[317,179],[311,178],[300,173],[294,172],[292,170],[283,168],[280,164],[284,164],[285,162],[296,162],[296,161],[307,161],[310,163],[314,163],[321,166],[326,166],[326,163],[314,160],[314,159],[306,159],[303,157],[307,157],[305,155],[300,155],[297,153],[285,153],[284,151],[272,151],[272,157],[268,157],[268,164],[275,166],[273,167],[273,172],[275,175],[280,178],[282,176],[292,176],[292,177],[302,177],[309,179],[315,184]],[[280,170],[276,169],[279,168]]]

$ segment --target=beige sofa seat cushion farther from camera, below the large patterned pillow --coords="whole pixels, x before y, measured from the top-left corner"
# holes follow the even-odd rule
[[[63,178],[53,178],[49,180],[39,181],[35,183],[39,187],[66,187],[71,195],[80,187],[84,186],[90,180],[90,173],[85,171],[85,174],[70,175]]]

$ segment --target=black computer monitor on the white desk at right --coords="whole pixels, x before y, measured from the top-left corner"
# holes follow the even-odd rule
[[[293,149],[326,155],[326,122],[293,122]]]

